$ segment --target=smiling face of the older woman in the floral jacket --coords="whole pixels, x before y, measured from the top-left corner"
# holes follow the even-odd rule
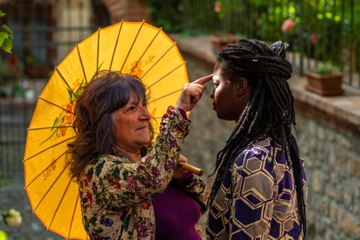
[[[116,144],[130,152],[150,143],[150,113],[139,97],[131,92],[128,103],[113,112]]]

